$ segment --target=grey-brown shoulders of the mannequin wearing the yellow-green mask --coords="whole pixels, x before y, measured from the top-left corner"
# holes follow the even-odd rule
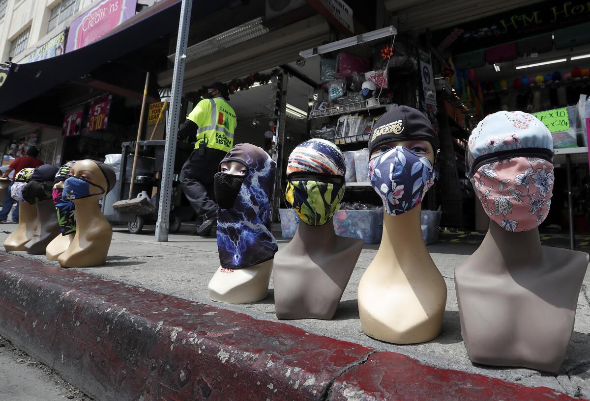
[[[363,248],[363,240],[337,236],[332,220],[300,223],[274,258],[278,319],[332,319]]]

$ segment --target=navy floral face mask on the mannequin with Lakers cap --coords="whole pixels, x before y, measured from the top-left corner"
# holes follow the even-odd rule
[[[396,146],[369,162],[369,178],[388,214],[396,216],[422,202],[432,187],[434,168],[430,160]]]

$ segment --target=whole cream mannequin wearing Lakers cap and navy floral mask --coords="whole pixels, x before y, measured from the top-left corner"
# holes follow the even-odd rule
[[[391,140],[398,137],[406,140]],[[427,342],[440,333],[447,302],[447,286],[420,224],[438,140],[424,115],[405,106],[383,114],[370,139],[369,177],[383,201],[383,236],[360,279],[360,323],[381,341]]]

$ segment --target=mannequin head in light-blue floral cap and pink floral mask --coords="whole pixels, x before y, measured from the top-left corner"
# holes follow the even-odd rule
[[[491,220],[506,231],[533,230],[551,207],[552,158],[545,124],[525,112],[500,111],[469,137],[467,177]]]

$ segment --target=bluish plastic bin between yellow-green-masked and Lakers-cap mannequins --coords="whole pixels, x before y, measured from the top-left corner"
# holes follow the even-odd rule
[[[341,237],[360,238],[378,244],[383,234],[382,210],[339,210],[334,214],[334,231]]]

